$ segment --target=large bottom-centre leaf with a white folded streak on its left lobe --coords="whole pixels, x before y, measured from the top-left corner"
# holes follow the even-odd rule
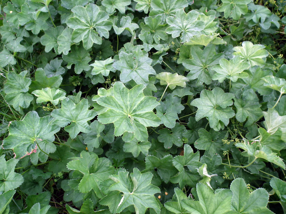
[[[144,214],[147,208],[153,208],[156,213],[160,213],[160,206],[154,197],[154,194],[160,192],[160,189],[150,184],[152,173],[141,173],[137,168],[134,168],[133,173],[130,173],[132,183],[128,174],[129,172],[120,171],[118,175],[110,176],[116,183],[111,185],[109,190],[123,193],[123,197],[117,205],[116,213],[120,213],[129,206],[134,206],[136,214]]]

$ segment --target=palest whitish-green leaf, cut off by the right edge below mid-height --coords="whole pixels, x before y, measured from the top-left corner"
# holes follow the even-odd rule
[[[268,133],[272,134],[281,128],[282,132],[286,132],[286,116],[280,116],[274,109],[269,108],[267,112],[263,112],[265,121],[263,122]]]

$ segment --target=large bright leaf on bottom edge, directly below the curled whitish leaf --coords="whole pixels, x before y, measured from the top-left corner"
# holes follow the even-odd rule
[[[196,184],[198,201],[182,199],[184,209],[191,213],[198,214],[237,214],[231,210],[232,192],[229,189],[222,189],[217,193],[212,193],[203,183]]]

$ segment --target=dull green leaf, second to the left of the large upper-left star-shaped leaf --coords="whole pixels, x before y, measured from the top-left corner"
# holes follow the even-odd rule
[[[45,52],[49,52],[51,49],[54,49],[55,53],[58,53],[59,45],[57,43],[57,38],[63,32],[63,29],[63,26],[57,26],[56,28],[49,27],[49,29],[45,31],[45,34],[41,37],[41,44],[45,45]]]

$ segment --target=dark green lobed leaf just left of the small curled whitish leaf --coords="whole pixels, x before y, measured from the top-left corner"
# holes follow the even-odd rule
[[[199,160],[199,151],[194,153],[192,147],[185,144],[184,156],[178,155],[173,158],[173,165],[179,170],[179,172],[175,176],[171,177],[170,181],[172,183],[179,183],[180,188],[185,185],[195,187],[199,178],[196,168],[202,165]]]

